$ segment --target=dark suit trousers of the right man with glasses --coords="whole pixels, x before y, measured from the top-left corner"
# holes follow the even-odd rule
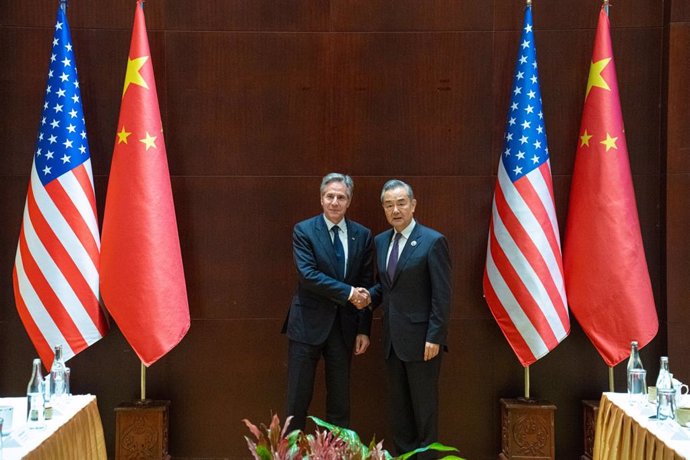
[[[401,361],[391,350],[386,359],[389,414],[398,455],[438,441],[438,378],[441,353],[430,361]],[[419,459],[435,458],[433,453]]]

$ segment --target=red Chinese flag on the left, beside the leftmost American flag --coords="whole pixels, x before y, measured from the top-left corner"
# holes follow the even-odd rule
[[[189,305],[146,23],[137,2],[101,237],[101,296],[150,366],[189,330]]]

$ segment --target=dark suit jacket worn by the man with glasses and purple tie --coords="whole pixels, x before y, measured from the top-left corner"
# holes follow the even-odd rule
[[[371,289],[372,305],[383,306],[383,346],[402,361],[423,361],[424,343],[446,345],[451,302],[451,264],[446,238],[416,223],[403,248],[396,273],[386,272],[393,229],[375,238],[378,284]]]

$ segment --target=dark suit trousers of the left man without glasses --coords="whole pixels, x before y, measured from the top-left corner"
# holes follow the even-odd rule
[[[320,345],[290,340],[288,346],[287,415],[292,415],[290,430],[304,430],[307,411],[314,393],[316,368],[323,356],[326,370],[326,421],[344,428],[350,425],[350,361],[336,316],[326,341]]]

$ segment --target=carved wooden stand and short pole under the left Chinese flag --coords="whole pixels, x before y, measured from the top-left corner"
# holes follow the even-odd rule
[[[146,399],[146,366],[141,363],[141,399],[115,408],[115,459],[168,460],[170,401]]]

